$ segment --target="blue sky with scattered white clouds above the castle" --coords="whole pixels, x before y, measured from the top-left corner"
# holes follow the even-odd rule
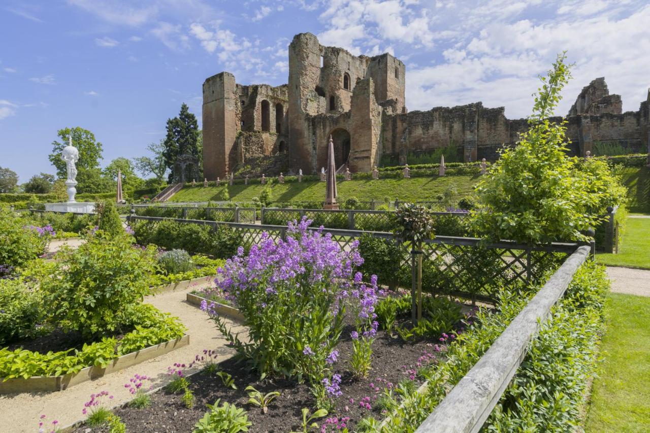
[[[402,59],[411,111],[483,101],[526,116],[537,75],[564,49],[575,78],[558,114],[601,76],[638,110],[648,23],[643,0],[2,0],[0,166],[21,183],[53,173],[47,154],[66,126],[95,133],[103,165],[144,155],[181,102],[201,120],[206,77],[286,83],[287,45],[302,32]]]

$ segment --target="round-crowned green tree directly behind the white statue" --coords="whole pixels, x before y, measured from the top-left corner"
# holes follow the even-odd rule
[[[77,161],[77,171],[79,173],[92,168],[98,168],[99,160],[103,159],[101,152],[103,145],[95,139],[95,135],[81,127],[59,129],[57,133],[61,141],[52,142],[52,153],[49,154],[49,161],[57,168],[57,176],[65,178],[66,162],[61,159],[61,151],[68,146],[68,136],[72,135],[72,144],[79,150],[79,161]],[[78,176],[78,175],[77,175]],[[79,179],[77,179],[79,182]],[[79,182],[81,183],[81,182]],[[78,189],[78,188],[77,188]]]

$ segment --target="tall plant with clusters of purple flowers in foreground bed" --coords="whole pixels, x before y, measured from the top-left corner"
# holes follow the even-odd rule
[[[307,218],[289,223],[286,239],[277,241],[263,233],[248,255],[240,247],[218,270],[216,287],[246,318],[248,342],[232,335],[209,305],[204,309],[261,376],[306,379],[324,395],[322,381],[334,383],[335,347],[363,259],[357,242],[343,249],[309,224]]]

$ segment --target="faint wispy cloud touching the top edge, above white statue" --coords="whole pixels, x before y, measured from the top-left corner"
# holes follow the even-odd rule
[[[119,0],[68,0],[68,3],[109,23],[132,27],[147,23],[158,14],[156,5],[133,7],[131,2]]]

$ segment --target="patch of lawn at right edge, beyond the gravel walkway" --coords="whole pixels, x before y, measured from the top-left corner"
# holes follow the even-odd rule
[[[627,218],[618,254],[597,254],[603,265],[650,269],[650,218]]]

